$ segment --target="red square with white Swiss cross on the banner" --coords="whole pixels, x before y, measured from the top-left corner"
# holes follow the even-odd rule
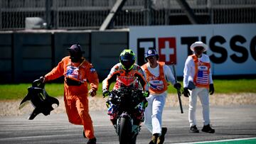
[[[159,61],[166,62],[166,65],[176,64],[176,39],[159,38]]]

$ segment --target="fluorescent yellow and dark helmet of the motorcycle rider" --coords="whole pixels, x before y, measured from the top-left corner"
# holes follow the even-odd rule
[[[123,50],[119,56],[119,62],[121,62],[124,70],[131,70],[135,63],[135,53],[132,50]]]

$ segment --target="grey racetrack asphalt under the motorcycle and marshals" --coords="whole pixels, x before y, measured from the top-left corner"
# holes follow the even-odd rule
[[[168,128],[165,143],[193,143],[234,138],[256,137],[256,105],[210,106],[210,119],[215,133],[189,133],[188,107],[166,107],[163,126]],[[196,116],[198,129],[202,128],[202,109],[198,106]],[[109,121],[107,111],[90,111],[97,143],[118,143],[117,134]],[[82,126],[68,122],[65,113],[50,116],[39,114],[34,120],[28,115],[0,117],[0,143],[86,143]],[[151,134],[142,125],[137,143],[149,143]]]

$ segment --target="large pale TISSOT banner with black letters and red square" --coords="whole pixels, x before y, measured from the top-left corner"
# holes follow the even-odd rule
[[[190,46],[198,40],[209,47],[213,75],[256,74],[256,23],[129,28],[129,48],[139,65],[145,62],[144,52],[154,48],[159,61],[176,65],[178,76],[183,76],[186,57],[193,54]]]

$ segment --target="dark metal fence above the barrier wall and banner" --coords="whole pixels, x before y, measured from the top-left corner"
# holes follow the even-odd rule
[[[99,29],[116,0],[0,0],[0,31],[39,17],[50,29]],[[199,23],[256,23],[256,0],[186,0]],[[113,28],[190,24],[177,0],[127,0]],[[42,27],[43,28],[43,27]]]

